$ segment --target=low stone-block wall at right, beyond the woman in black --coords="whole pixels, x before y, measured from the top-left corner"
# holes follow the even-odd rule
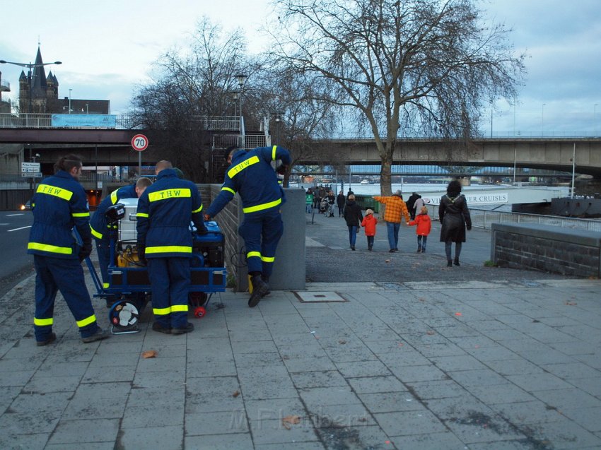
[[[503,267],[600,278],[601,232],[494,223],[491,260]]]

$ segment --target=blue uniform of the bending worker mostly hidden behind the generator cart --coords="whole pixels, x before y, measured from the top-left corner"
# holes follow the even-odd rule
[[[109,225],[107,223],[106,211],[110,206],[115,205],[121,199],[136,199],[136,186],[123,186],[119,189],[112,191],[110,196],[100,202],[98,208],[94,212],[90,220],[90,228],[92,236],[96,242],[96,251],[98,253],[98,263],[100,264],[100,273],[103,277],[103,288],[107,289],[110,287],[108,277],[108,266],[110,264],[110,239],[117,239],[117,224]],[[111,300],[117,300],[117,296],[107,299],[107,302]]]

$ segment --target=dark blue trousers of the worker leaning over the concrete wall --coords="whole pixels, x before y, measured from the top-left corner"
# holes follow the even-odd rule
[[[271,276],[278,242],[284,233],[279,209],[261,214],[245,214],[238,232],[246,246],[248,273],[260,272],[264,276]]]

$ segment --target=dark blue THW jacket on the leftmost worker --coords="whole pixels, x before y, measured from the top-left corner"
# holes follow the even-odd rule
[[[33,226],[28,254],[76,259],[78,245],[71,230],[77,228],[83,242],[91,242],[90,211],[86,191],[71,174],[59,170],[44,179],[33,194]]]

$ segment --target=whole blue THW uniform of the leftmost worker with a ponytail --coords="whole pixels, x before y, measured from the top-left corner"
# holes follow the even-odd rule
[[[83,242],[92,241],[86,192],[71,174],[59,170],[37,186],[31,209],[33,226],[27,252],[33,254],[36,271],[35,339],[47,341],[52,336],[54,299],[59,290],[81,337],[92,336],[98,324],[78,259],[81,247],[71,232],[76,227]]]

